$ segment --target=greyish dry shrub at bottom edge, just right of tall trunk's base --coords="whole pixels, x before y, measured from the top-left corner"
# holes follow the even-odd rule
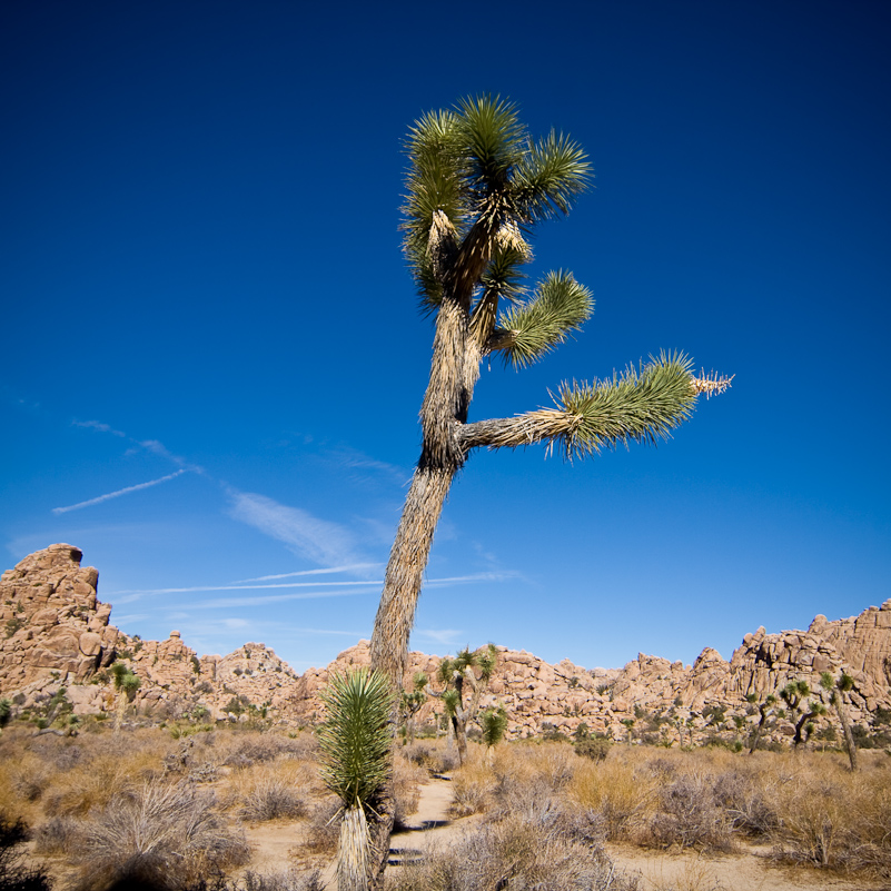
[[[590,844],[562,829],[514,814],[468,832],[447,850],[387,875],[387,891],[478,891],[528,888],[537,891],[634,891],[634,878],[617,873]]]

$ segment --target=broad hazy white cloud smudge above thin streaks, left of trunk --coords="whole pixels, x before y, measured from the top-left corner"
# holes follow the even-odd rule
[[[231,499],[231,517],[284,542],[295,554],[329,565],[355,562],[353,536],[337,523],[319,519],[308,511],[288,507],[265,495],[239,492],[231,486],[226,491]]]

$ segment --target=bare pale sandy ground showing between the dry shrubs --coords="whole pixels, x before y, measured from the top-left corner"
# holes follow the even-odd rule
[[[420,788],[418,811],[405,830],[390,841],[387,870],[398,870],[430,847],[447,847],[465,830],[478,823],[479,815],[451,820],[452,785],[448,780],[430,780]],[[250,869],[257,872],[284,870],[295,865],[294,847],[303,829],[299,822],[260,823],[247,830],[254,849]],[[819,870],[773,864],[770,849],[751,845],[734,854],[701,855],[695,852],[646,851],[633,845],[607,844],[606,852],[618,869],[638,873],[642,891],[891,891],[888,883],[850,881]],[[337,882],[331,863],[324,873],[326,889]]]

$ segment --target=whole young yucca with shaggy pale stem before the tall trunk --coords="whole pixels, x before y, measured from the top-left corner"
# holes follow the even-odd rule
[[[321,694],[328,720],[319,730],[321,779],[340,799],[338,891],[366,891],[370,838],[366,811],[390,775],[393,693],[379,672],[359,669],[334,675]]]

